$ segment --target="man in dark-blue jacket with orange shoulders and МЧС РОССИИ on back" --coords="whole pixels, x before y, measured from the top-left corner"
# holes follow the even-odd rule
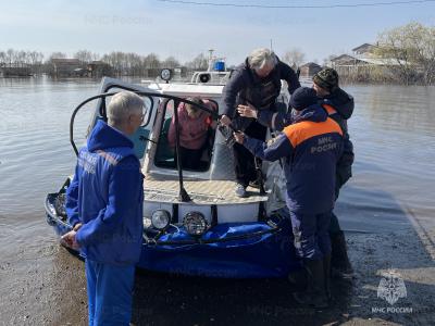
[[[343,131],[318,104],[314,89],[297,89],[290,104],[294,123],[270,145],[240,133],[235,133],[235,138],[260,159],[285,159],[286,203],[295,248],[302,258],[308,277],[307,291],[296,293],[295,299],[324,308],[331,260],[327,230],[335,202],[335,172],[343,151]]]

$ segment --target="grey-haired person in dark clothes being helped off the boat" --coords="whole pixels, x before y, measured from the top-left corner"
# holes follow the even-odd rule
[[[275,102],[281,92],[281,80],[286,80],[288,91],[300,87],[295,72],[269,49],[257,49],[233,73],[223,89],[223,115],[221,123],[247,136],[264,140],[266,127],[256,120],[243,117],[237,106],[259,111],[276,111]],[[257,179],[254,158],[239,143],[234,145],[236,195],[246,196],[246,187]]]

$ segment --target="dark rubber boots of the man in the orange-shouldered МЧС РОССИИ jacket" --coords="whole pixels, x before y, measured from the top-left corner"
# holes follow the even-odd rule
[[[303,292],[295,292],[295,300],[300,304],[312,305],[316,309],[327,308],[323,260],[303,260],[303,265],[308,277],[307,289]]]

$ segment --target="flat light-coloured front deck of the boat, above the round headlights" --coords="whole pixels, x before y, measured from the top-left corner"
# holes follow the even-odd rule
[[[196,204],[244,204],[266,201],[268,195],[248,187],[248,197],[234,193],[235,183],[231,180],[200,180],[184,178],[184,188]],[[147,174],[144,180],[145,200],[176,203],[178,200],[178,178],[173,176]]]

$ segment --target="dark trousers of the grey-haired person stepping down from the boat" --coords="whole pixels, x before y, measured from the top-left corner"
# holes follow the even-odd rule
[[[268,127],[252,121],[245,129],[245,135],[264,141]],[[250,181],[257,180],[254,156],[243,145],[235,143],[233,147],[236,180],[247,187]]]

